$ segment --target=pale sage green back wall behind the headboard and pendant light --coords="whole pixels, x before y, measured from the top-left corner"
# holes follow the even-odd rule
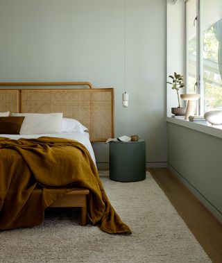
[[[114,87],[115,135],[146,140],[149,166],[167,164],[166,15],[163,0],[0,0],[1,81],[89,81]],[[108,145],[94,144],[108,167]]]

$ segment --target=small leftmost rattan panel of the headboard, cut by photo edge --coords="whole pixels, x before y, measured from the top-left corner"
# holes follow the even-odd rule
[[[0,112],[19,112],[19,90],[0,90]]]

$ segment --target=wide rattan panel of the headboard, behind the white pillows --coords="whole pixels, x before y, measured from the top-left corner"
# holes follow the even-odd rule
[[[112,133],[112,89],[22,90],[21,112],[63,112],[89,128],[92,141],[105,141]]]

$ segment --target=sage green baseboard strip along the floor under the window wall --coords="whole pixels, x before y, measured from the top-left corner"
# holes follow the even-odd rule
[[[198,190],[195,187],[193,187],[193,185],[191,185],[191,183],[189,183],[182,176],[182,174],[180,174],[178,171],[176,171],[176,169],[174,169],[171,166],[171,164],[168,165],[168,168],[200,200],[200,202],[203,203],[203,205],[205,205],[207,210],[209,210],[212,214],[214,214],[214,217],[216,217],[216,219],[218,219],[222,223],[222,214],[221,214],[221,212],[219,212],[219,210],[217,210],[216,207],[214,207],[212,205],[212,203],[210,203],[210,201],[208,201],[207,198],[205,198],[205,196],[200,194],[200,192],[198,192]]]

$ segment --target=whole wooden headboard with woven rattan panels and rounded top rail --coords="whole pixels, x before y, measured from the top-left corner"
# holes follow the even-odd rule
[[[66,86],[89,88],[61,88]],[[63,117],[77,119],[89,128],[91,142],[114,137],[113,88],[93,88],[88,82],[0,83],[0,112],[6,111],[63,112]]]

